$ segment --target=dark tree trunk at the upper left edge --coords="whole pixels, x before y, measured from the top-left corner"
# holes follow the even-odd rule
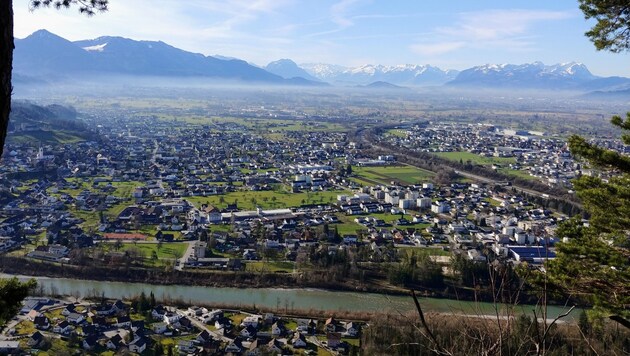
[[[13,48],[13,1],[0,0],[0,156],[4,152],[11,112]]]

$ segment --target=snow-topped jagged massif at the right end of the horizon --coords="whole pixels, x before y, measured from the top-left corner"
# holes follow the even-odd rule
[[[450,85],[484,87],[519,87],[542,89],[571,89],[588,85],[598,77],[584,64],[570,62],[545,65],[486,64],[463,70]]]

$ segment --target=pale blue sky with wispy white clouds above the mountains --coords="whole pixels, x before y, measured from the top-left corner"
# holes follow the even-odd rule
[[[296,63],[483,64],[581,62],[593,74],[630,77],[630,53],[596,51],[577,0],[110,0],[93,17],[29,11],[14,0],[14,31],[69,40],[122,36],[246,60]]]

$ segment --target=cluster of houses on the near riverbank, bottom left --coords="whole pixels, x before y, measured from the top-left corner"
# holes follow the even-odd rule
[[[121,300],[71,302],[28,298],[4,328],[0,353],[69,354],[357,354],[363,322],[293,318],[267,312],[177,308],[142,294]],[[351,351],[352,350],[352,351]]]

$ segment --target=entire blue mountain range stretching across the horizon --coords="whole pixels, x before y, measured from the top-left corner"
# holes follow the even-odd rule
[[[442,86],[464,88],[521,88],[544,90],[599,91],[616,93],[630,89],[630,79],[598,77],[580,63],[545,65],[486,64],[462,71],[431,65],[363,65],[343,67],[322,63],[298,65],[280,59],[264,67],[220,55],[187,52],[161,41],[136,41],[123,37],[99,37],[68,41],[46,30],[16,39],[14,52],[16,83],[33,84],[51,78],[80,80],[93,75],[207,78],[302,86]],[[387,85],[387,84],[391,84]]]

